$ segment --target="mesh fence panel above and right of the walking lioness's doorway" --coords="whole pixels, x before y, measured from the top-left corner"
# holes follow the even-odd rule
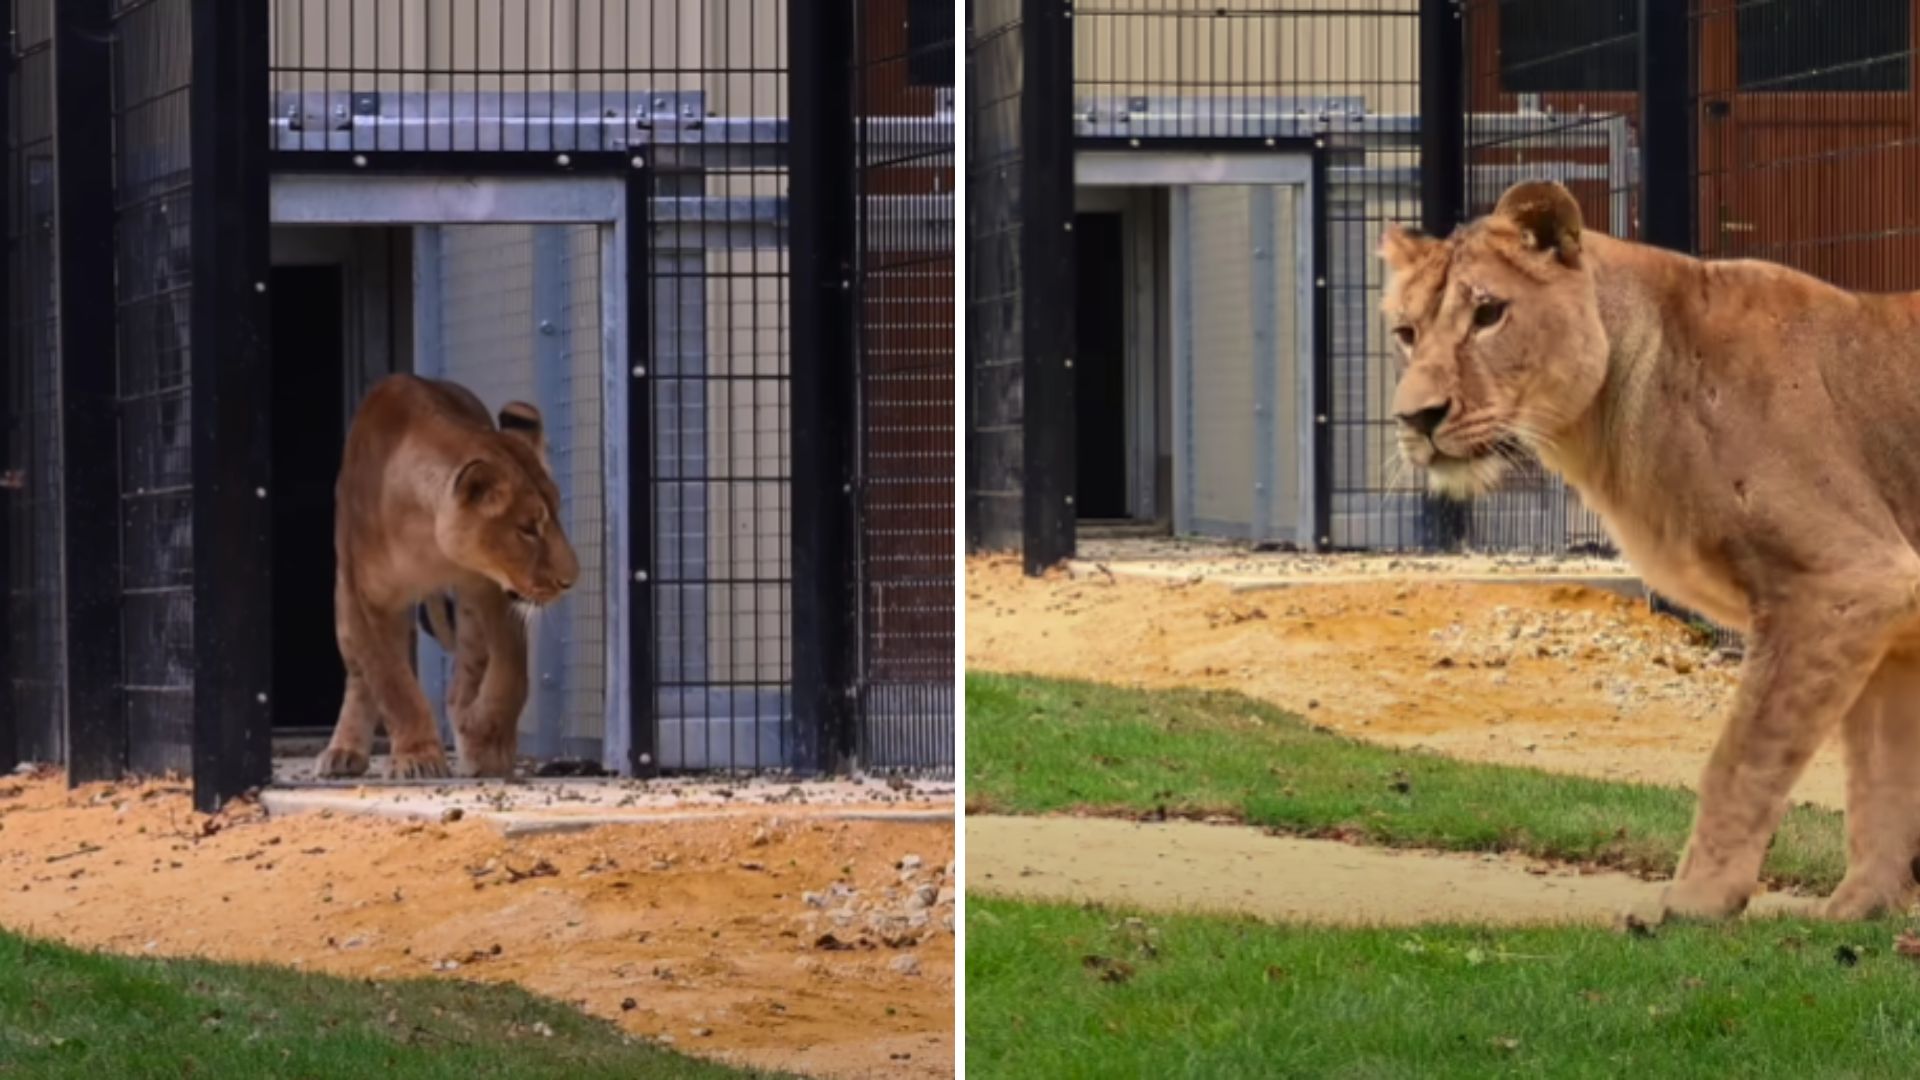
[[[634,509],[649,534],[632,546],[639,561],[618,569],[651,619],[636,628],[645,644],[634,653],[645,669],[634,673],[636,715],[653,724],[636,738],[639,767],[791,765],[787,2],[275,0],[273,10],[269,138],[282,152],[405,152],[420,169],[449,171],[488,167],[463,163],[468,152],[522,165],[618,152],[616,163],[634,154],[653,171],[647,233],[634,240],[649,281],[632,319],[643,338],[632,350],[641,396],[630,404],[649,444]],[[580,254],[566,259],[574,273],[586,273]],[[472,288],[499,294],[501,282]],[[538,282],[526,288],[538,304]],[[599,315],[580,288],[566,294],[578,388],[586,363],[614,357],[584,352]],[[620,432],[589,423],[597,404],[557,394],[570,400],[572,438],[555,446],[555,467],[578,488],[576,546],[591,548],[609,525],[591,513],[628,513],[593,511],[588,498]],[[607,673],[586,657],[611,626],[586,596],[593,588],[584,571],[564,619],[564,690],[545,688],[564,701],[541,705],[580,721],[563,744],[599,734],[588,717]]]

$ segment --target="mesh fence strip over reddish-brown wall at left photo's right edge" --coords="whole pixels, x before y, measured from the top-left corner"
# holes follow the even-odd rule
[[[952,4],[864,0],[856,8],[858,757],[877,769],[950,769]],[[891,140],[897,129],[912,135]]]

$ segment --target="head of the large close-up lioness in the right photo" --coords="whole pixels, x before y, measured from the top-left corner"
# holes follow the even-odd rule
[[[1492,488],[1521,450],[1551,452],[1607,380],[1607,334],[1580,206],[1553,183],[1507,188],[1446,240],[1388,227],[1382,311],[1400,348],[1400,452],[1453,498]]]

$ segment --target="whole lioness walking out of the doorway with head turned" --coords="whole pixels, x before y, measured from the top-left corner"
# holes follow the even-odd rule
[[[413,375],[374,384],[334,486],[334,632],[348,688],[321,776],[367,773],[376,721],[392,742],[392,776],[447,774],[407,650],[422,601],[424,623],[455,657],[447,711],[461,774],[513,773],[524,615],[580,575],[559,511],[540,409],[513,402],[495,429],[465,386]]]

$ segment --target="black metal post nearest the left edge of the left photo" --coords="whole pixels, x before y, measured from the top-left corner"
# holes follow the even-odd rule
[[[127,769],[121,700],[109,0],[54,6],[67,778]]]

